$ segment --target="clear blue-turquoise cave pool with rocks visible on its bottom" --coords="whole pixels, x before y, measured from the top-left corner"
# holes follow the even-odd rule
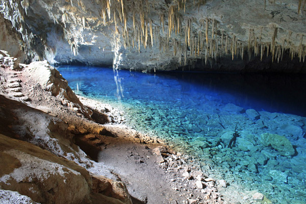
[[[58,69],[72,90],[123,109],[128,125],[171,141],[212,176],[273,203],[306,202],[305,75],[120,70],[119,102],[112,69]]]

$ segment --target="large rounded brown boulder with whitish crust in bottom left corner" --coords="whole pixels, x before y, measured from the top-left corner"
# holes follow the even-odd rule
[[[35,202],[80,203],[91,190],[89,173],[38,146],[0,134],[0,186]]]

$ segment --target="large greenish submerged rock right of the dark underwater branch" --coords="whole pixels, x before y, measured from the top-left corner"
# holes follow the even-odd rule
[[[295,153],[292,144],[285,136],[264,133],[261,135],[261,140],[264,146],[271,145],[278,155],[290,157]]]

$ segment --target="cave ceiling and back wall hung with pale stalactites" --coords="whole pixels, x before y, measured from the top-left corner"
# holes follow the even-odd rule
[[[305,13],[306,0],[1,0],[0,48],[21,62],[305,72]]]

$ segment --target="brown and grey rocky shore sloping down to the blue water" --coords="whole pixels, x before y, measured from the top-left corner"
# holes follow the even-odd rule
[[[18,64],[1,54],[1,202],[221,201],[220,182],[190,168],[161,140],[118,124],[111,107],[84,106],[46,62]]]

